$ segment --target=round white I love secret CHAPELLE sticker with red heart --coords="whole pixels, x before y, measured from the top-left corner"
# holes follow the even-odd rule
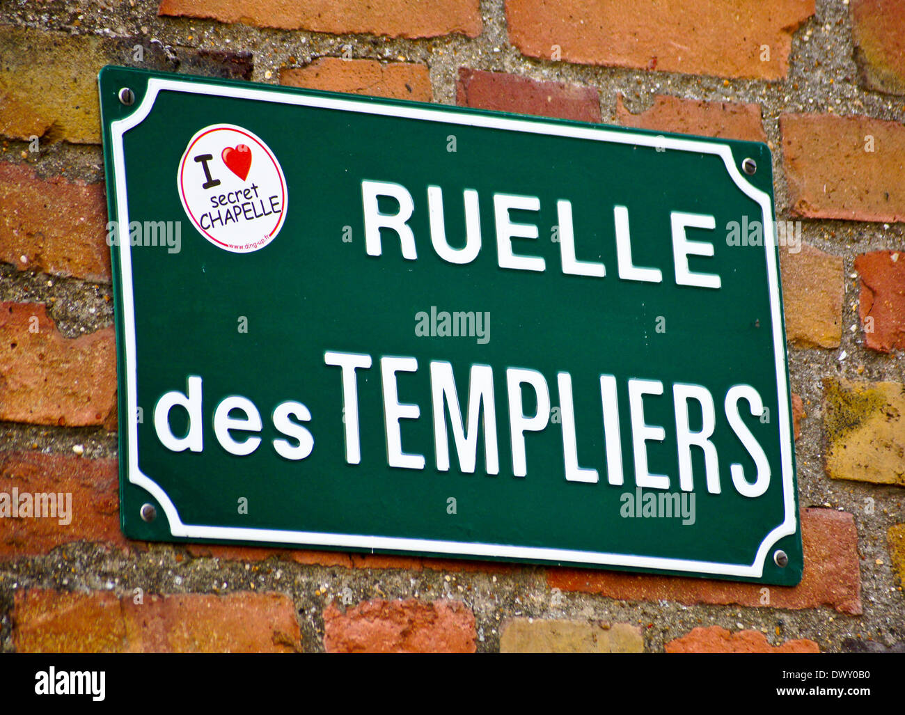
[[[286,218],[280,162],[260,138],[232,124],[214,124],[192,137],[176,187],[198,232],[233,253],[271,243]]]

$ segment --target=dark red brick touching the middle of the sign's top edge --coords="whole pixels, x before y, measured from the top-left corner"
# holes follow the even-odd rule
[[[456,102],[481,110],[600,121],[600,95],[593,87],[529,80],[505,72],[460,67]]]

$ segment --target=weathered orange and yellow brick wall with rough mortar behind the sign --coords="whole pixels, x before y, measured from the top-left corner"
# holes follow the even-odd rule
[[[138,48],[140,47],[140,52]],[[905,0],[0,3],[0,651],[905,649]],[[106,63],[766,141],[805,578],[129,542]]]

